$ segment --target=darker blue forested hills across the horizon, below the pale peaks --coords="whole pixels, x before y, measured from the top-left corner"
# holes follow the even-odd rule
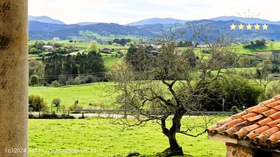
[[[192,33],[191,29],[194,27],[200,27],[204,25],[206,28],[214,28],[219,32],[229,32],[231,35],[237,38],[246,37],[249,40],[266,39],[280,41],[280,25],[268,24],[268,30],[231,30],[230,25],[239,25],[241,22],[236,20],[229,21],[215,21],[215,20],[199,20],[190,21],[185,24],[176,24],[177,28],[185,29],[189,34]],[[242,23],[247,25],[247,23]],[[251,25],[255,23],[250,23]],[[175,25],[175,24],[174,24]],[[42,23],[38,21],[29,22],[29,38],[31,40],[51,40],[53,37],[59,37],[62,40],[69,39],[81,39],[81,40],[95,40],[98,37],[110,37],[110,36],[137,36],[152,38],[159,34],[162,30],[174,26],[172,24],[148,24],[139,26],[120,25],[116,23],[96,23],[91,25],[78,25],[78,24],[50,24]],[[263,23],[259,23],[263,25]],[[81,34],[82,31],[89,31],[90,35]],[[213,32],[215,35],[217,32]],[[188,37],[188,35],[186,36]],[[99,39],[102,40],[102,39]]]

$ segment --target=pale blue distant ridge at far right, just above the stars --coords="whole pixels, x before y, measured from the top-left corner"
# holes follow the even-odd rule
[[[229,20],[237,20],[244,23],[266,23],[266,24],[278,24],[280,25],[280,21],[269,21],[260,18],[245,18],[245,17],[237,17],[237,16],[220,16],[215,18],[210,18],[208,20],[222,20],[222,21],[229,21]]]

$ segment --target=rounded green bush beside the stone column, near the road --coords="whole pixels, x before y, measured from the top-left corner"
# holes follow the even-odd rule
[[[49,107],[47,102],[40,95],[31,94],[29,95],[29,104],[33,108],[33,111],[39,111],[39,105],[41,111],[48,111]]]

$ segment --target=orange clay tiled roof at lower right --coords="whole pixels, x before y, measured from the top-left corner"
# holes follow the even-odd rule
[[[208,133],[249,140],[257,145],[280,146],[280,95],[261,102],[206,129]]]

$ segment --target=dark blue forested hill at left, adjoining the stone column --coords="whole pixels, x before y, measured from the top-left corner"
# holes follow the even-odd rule
[[[89,30],[97,33],[100,36],[109,37],[111,35],[122,36],[141,36],[150,37],[155,35],[149,27],[138,28],[137,26],[125,26],[116,23],[97,23],[92,25],[78,25],[78,24],[50,24],[37,21],[29,22],[29,38],[31,40],[50,40],[53,37],[59,37],[62,40],[69,40],[73,37],[82,37],[80,30]],[[85,38],[85,37],[82,37]],[[95,40],[94,37],[88,37]]]

